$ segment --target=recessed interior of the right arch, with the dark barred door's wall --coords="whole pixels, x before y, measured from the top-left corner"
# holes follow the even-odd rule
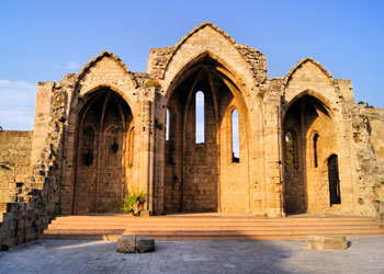
[[[290,104],[283,119],[286,214],[326,213],[327,159],[336,139],[334,122],[320,100],[304,94]]]

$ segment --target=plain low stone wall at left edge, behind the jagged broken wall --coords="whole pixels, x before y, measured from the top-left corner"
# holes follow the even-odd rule
[[[33,132],[0,132],[0,203],[16,202],[31,176]]]

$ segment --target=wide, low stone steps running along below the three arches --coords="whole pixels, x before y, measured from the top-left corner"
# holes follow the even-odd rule
[[[272,240],[302,239],[307,235],[384,235],[369,217],[294,216],[263,218],[225,215],[84,215],[56,218],[45,239],[115,241],[120,236],[148,236],[155,240]]]

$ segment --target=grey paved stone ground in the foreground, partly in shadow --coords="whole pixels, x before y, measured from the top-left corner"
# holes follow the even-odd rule
[[[349,238],[343,251],[305,240],[158,241],[146,254],[116,242],[37,240],[0,252],[0,273],[384,273],[384,236]]]

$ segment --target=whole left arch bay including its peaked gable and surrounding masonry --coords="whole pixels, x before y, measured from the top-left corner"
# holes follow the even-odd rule
[[[140,109],[138,89],[146,80],[146,73],[132,73],[118,57],[103,52],[61,83],[66,89],[64,214],[121,212],[131,186],[147,191],[148,176],[139,174],[139,164],[148,149],[142,145],[140,135],[148,129],[140,130],[140,119],[148,116]],[[93,132],[92,144],[83,138],[87,128]],[[89,165],[83,161],[87,155],[92,157]]]

